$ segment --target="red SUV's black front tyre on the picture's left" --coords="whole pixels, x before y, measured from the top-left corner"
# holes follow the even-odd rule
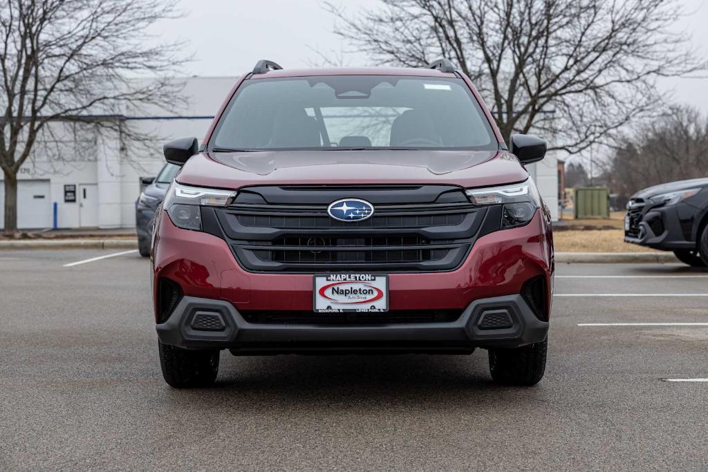
[[[162,344],[160,367],[165,381],[175,388],[205,387],[219,373],[218,350],[189,350]]]

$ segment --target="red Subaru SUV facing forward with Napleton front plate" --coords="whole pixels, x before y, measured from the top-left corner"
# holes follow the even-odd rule
[[[428,69],[283,70],[239,79],[155,219],[162,372],[211,384],[219,353],[489,351],[494,380],[543,376],[549,212],[472,82]]]

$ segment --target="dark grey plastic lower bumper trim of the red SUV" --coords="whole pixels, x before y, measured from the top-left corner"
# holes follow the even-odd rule
[[[489,317],[507,321],[501,328],[489,328]],[[226,301],[183,297],[170,318],[157,325],[157,334],[164,344],[230,349],[244,355],[360,350],[470,352],[475,347],[539,343],[546,339],[548,327],[520,295],[473,301],[452,322],[363,326],[249,323]]]

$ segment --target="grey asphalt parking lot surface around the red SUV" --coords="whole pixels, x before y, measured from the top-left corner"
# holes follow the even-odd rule
[[[115,252],[0,251],[0,469],[708,468],[708,271],[559,265],[533,388],[484,351],[222,352],[215,387],[176,391],[147,260],[65,267]]]

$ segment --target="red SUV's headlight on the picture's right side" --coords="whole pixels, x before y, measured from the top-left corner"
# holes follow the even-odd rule
[[[527,224],[541,207],[541,196],[531,178],[523,183],[499,187],[473,188],[466,190],[474,205],[503,205],[501,227],[514,228]]]

